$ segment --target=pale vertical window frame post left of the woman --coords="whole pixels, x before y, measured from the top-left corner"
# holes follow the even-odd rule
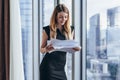
[[[40,18],[39,11],[39,0],[32,0],[32,64],[33,64],[33,80],[39,80],[39,59],[40,59]]]

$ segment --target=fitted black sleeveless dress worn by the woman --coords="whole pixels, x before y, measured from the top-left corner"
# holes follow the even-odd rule
[[[43,28],[50,39],[49,26]],[[56,39],[65,40],[65,36],[57,29]],[[54,51],[46,53],[40,64],[40,80],[67,80],[64,66],[66,63],[66,52]]]

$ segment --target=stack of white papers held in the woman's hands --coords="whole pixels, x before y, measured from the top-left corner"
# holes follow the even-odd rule
[[[75,40],[58,40],[58,39],[52,39],[48,41],[48,45],[52,44],[54,50],[53,51],[64,51],[68,53],[75,53],[76,51],[72,48],[79,47],[80,45]],[[53,52],[53,51],[50,51]]]

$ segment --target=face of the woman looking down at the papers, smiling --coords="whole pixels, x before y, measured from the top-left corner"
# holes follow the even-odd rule
[[[62,26],[68,19],[68,14],[65,12],[59,12],[57,15],[57,24]]]

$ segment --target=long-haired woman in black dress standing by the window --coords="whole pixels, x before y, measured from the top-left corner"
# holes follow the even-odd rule
[[[64,66],[66,63],[66,52],[54,51],[52,44],[47,45],[47,40],[73,39],[74,31],[70,27],[69,10],[64,4],[55,7],[50,25],[43,28],[41,53],[46,53],[40,65],[40,80],[67,80]],[[73,48],[78,51],[79,48]]]

